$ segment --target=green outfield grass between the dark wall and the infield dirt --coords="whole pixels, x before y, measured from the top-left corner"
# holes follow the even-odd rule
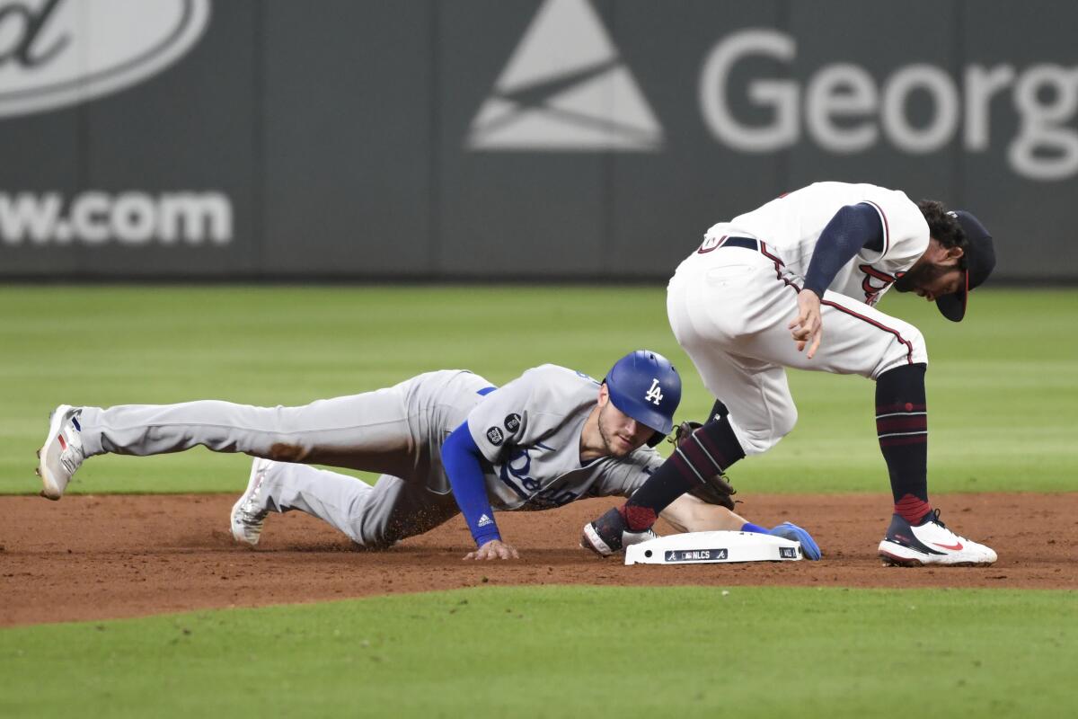
[[[664,298],[659,287],[0,288],[0,492],[37,490],[33,450],[60,402],[293,404],[434,369],[505,383],[542,362],[602,376],[649,347],[682,370],[679,414],[701,417],[710,399],[669,332]],[[935,492],[1076,488],[1078,292],[979,291],[960,324],[894,292],[882,308],[928,340]],[[742,462],[738,485],[885,492],[871,383],[791,372],[790,385],[798,428]],[[72,490],[235,492],[248,465],[203,450],[102,457]]]

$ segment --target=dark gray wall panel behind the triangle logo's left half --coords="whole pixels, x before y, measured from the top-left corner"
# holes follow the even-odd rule
[[[498,0],[461,0],[452,12],[440,6],[442,273],[496,280],[594,275],[603,266],[610,177],[604,153],[466,147],[473,119],[538,6]]]

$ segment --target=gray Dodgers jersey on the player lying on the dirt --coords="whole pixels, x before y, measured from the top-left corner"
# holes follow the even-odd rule
[[[627,497],[662,464],[644,446],[627,457],[580,462],[580,432],[599,383],[543,364],[490,392],[468,414],[468,428],[494,468],[487,496],[498,510],[540,510],[583,496]]]

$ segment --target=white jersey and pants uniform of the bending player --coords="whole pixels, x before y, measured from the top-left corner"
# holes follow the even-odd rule
[[[861,249],[839,271],[824,293],[823,342],[810,360],[788,329],[797,295],[824,227],[840,208],[860,203],[880,213],[883,251]],[[927,222],[904,193],[843,182],[812,184],[707,231],[671,280],[666,307],[704,385],[729,407],[745,454],[768,451],[797,421],[785,368],[875,379],[927,363],[921,332],[874,305],[928,239]]]

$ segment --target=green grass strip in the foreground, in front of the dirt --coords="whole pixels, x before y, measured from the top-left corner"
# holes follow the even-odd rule
[[[0,715],[1064,717],[1076,638],[1067,592],[483,587],[2,630]]]

